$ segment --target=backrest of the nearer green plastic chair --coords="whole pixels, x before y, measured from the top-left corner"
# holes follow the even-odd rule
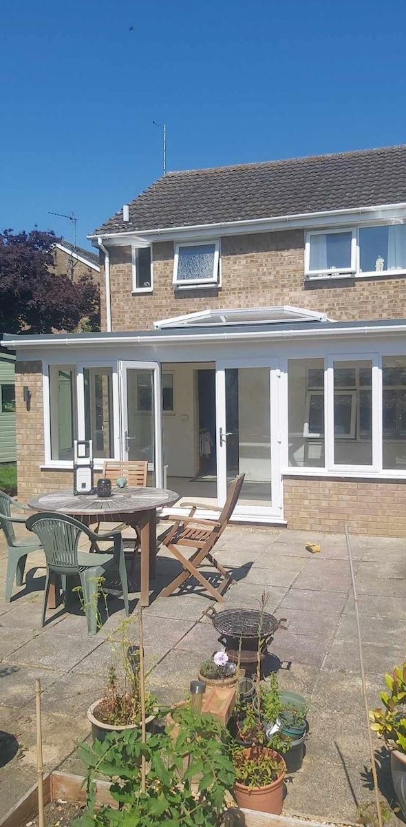
[[[65,514],[47,511],[33,514],[26,528],[40,538],[46,562],[51,568],[77,568],[78,543],[81,534],[87,534],[82,523]]]

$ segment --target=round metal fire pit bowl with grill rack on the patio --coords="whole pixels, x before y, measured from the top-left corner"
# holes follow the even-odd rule
[[[213,626],[221,635],[221,642],[232,663],[238,662],[241,645],[241,668],[247,672],[256,667],[259,640],[262,662],[279,624],[274,614],[255,609],[225,609],[213,617]]]

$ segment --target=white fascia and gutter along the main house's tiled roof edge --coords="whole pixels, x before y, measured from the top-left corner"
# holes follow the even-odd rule
[[[406,219],[406,202],[393,204],[376,204],[371,207],[353,207],[336,210],[322,210],[318,213],[292,213],[291,215],[276,216],[275,218],[254,218],[233,222],[217,222],[213,224],[193,224],[189,227],[160,227],[155,230],[136,230],[127,232],[104,232],[103,239],[112,245],[128,245],[134,241],[183,241],[193,238],[218,238],[221,236],[235,236],[240,233],[269,232],[272,230],[311,228],[311,227],[342,227],[346,224],[368,223],[376,221],[390,221]],[[101,234],[88,236],[89,240],[100,237]]]

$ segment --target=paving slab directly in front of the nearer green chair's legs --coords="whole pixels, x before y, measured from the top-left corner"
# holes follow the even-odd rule
[[[29,640],[8,656],[8,660],[10,663],[19,663],[21,666],[37,665],[69,672],[98,646],[100,646],[100,641],[97,635],[79,638],[68,634],[58,634],[56,629],[52,629],[50,634],[41,633]]]

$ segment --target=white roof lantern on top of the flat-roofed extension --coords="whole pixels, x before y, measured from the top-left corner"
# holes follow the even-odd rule
[[[271,308],[225,308],[219,310],[201,310],[186,316],[161,318],[154,322],[154,327],[211,327],[223,324],[277,324],[280,322],[329,322],[326,313],[314,310],[290,307],[281,304]]]

